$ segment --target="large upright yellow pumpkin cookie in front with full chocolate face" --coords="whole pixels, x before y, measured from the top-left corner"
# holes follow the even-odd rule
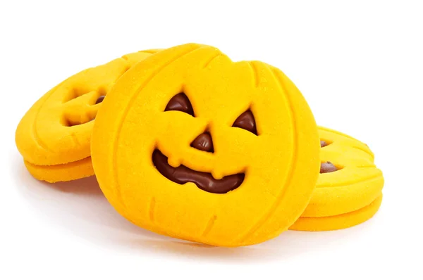
[[[91,147],[102,191],[134,224],[245,246],[300,217],[319,175],[318,141],[312,112],[283,72],[185,44],[119,79]]]

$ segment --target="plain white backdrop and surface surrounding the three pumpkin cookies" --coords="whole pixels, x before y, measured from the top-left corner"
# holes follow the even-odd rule
[[[1,1],[0,279],[423,279],[422,14],[422,1]],[[319,125],[369,144],[386,179],[376,216],[212,248],[135,227],[94,178],[30,177],[14,132],[42,94],[124,53],[187,42],[281,68]]]

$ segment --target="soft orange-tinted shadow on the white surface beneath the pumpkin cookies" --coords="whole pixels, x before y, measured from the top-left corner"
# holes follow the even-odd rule
[[[135,250],[152,255],[176,255],[221,262],[281,261],[310,250],[328,250],[352,235],[360,226],[343,231],[286,231],[255,246],[220,248],[161,236],[128,222],[104,197],[95,177],[49,184],[34,179],[20,155],[9,158],[16,188],[40,218],[62,227],[90,243],[116,250]]]

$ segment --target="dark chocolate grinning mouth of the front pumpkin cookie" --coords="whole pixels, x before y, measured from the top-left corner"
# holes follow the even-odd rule
[[[199,189],[209,193],[227,193],[237,189],[243,184],[245,174],[238,173],[223,177],[222,179],[214,179],[212,174],[192,170],[185,165],[172,167],[168,164],[168,158],[158,149],[153,152],[153,163],[167,179],[177,184],[194,183]]]

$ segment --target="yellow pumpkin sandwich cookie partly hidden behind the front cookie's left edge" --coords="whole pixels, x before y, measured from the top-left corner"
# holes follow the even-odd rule
[[[20,120],[16,146],[27,170],[47,182],[94,174],[90,139],[104,96],[135,63],[157,50],[129,53],[69,77],[44,94]]]

